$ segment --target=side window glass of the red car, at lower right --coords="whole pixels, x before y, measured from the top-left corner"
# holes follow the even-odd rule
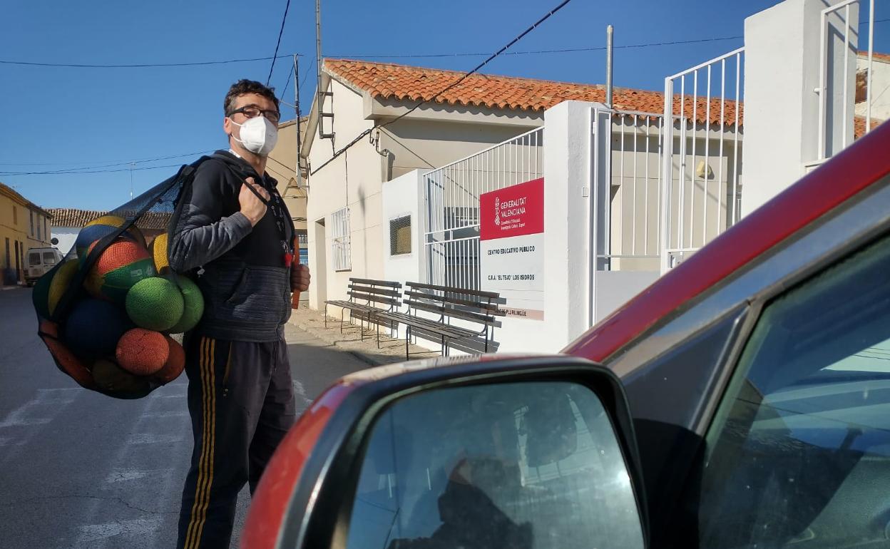
[[[706,441],[696,546],[888,544],[890,240],[765,307]]]

